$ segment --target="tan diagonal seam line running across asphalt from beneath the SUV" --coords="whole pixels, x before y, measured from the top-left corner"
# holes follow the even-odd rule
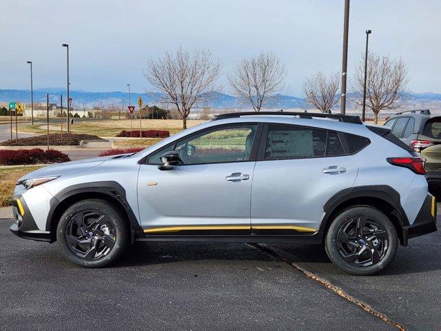
[[[331,283],[327,279],[323,279],[322,277],[319,277],[314,272],[310,272],[309,270],[302,268],[297,263],[295,263],[293,261],[289,261],[289,259],[287,259],[287,257],[285,257],[283,254],[280,254],[277,249],[270,248],[269,245],[267,245],[267,244],[248,243],[248,245],[251,245],[252,247],[254,247],[256,249],[261,250],[261,251],[269,254],[271,257],[274,257],[276,259],[280,259],[280,260],[284,261],[285,263],[288,263],[289,265],[291,265],[291,267],[296,268],[297,270],[299,270],[300,272],[305,274],[305,276],[320,283],[321,285],[325,286],[325,288],[331,290],[332,292],[334,292],[338,296],[346,299],[347,301],[356,304],[359,308],[361,308],[362,310],[365,310],[365,312],[368,312],[369,314],[373,314],[373,316],[377,317],[378,319],[381,319],[385,323],[388,323],[388,324],[398,328],[398,330],[400,330],[400,331],[407,330],[407,328],[404,328],[404,326],[401,323],[393,321],[390,317],[387,316],[387,314],[384,314],[382,312],[379,312],[378,310],[373,309],[371,307],[371,305],[369,305],[365,301],[362,301],[360,299],[357,299],[356,297],[353,297],[351,294],[345,292],[345,290],[342,290],[342,288],[334,285],[333,283]]]

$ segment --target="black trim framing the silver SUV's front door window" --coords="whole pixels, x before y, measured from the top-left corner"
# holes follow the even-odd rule
[[[178,143],[180,143],[181,141],[186,140],[186,139],[190,139],[191,137],[194,137],[196,135],[204,134],[206,132],[217,131],[219,128],[221,128],[221,130],[225,130],[228,128],[234,128],[236,126],[247,126],[247,125],[248,126],[249,125],[257,126],[256,135],[254,136],[253,145],[251,148],[251,152],[249,153],[249,159],[247,161],[206,162],[206,163],[194,163],[194,164],[183,164],[183,165],[187,166],[187,165],[207,165],[207,164],[223,164],[223,163],[225,164],[225,163],[238,163],[238,162],[255,162],[257,159],[260,137],[262,137],[262,130],[263,130],[264,123],[249,121],[249,122],[238,122],[238,123],[224,123],[224,124],[219,124],[217,126],[210,126],[208,128],[203,128],[203,129],[198,130],[196,132],[192,132],[190,134],[187,134],[184,137],[181,137],[179,139],[172,141],[171,143],[167,143],[167,145],[162,146],[161,148],[158,148],[157,150],[154,150],[150,154],[147,154],[145,157],[143,157],[143,159],[140,160],[140,163],[145,164],[145,165],[161,165],[161,164],[156,164],[156,163],[148,163],[150,157],[152,157],[153,154],[160,152],[161,150],[165,150],[166,148],[169,148],[170,146],[174,146],[174,148],[176,148],[176,145]],[[177,165],[177,166],[182,166],[182,165]]]

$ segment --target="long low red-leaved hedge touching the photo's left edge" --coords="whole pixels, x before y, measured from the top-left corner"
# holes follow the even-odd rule
[[[70,161],[67,154],[59,150],[0,150],[1,165],[20,165],[37,163],[61,163]]]

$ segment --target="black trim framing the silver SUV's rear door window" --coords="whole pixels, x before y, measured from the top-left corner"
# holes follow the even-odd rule
[[[267,140],[268,140],[268,131],[269,126],[280,126],[280,127],[291,127],[291,128],[301,128],[301,129],[311,129],[311,130],[318,130],[318,131],[325,131],[326,133],[326,144],[327,144],[327,138],[329,132],[334,132],[338,135],[338,138],[340,139],[340,143],[342,144],[343,150],[345,154],[342,155],[326,155],[325,150],[325,156],[323,157],[278,157],[275,159],[265,159],[265,152],[267,149]],[[317,128],[315,126],[301,126],[298,124],[289,124],[289,123],[265,123],[265,126],[263,127],[263,131],[260,138],[260,146],[257,154],[257,161],[279,161],[279,160],[304,160],[304,159],[323,159],[328,157],[346,157],[348,155],[351,155],[351,151],[349,150],[349,145],[346,141],[345,135],[343,132],[336,131],[336,130],[330,130],[327,128]]]

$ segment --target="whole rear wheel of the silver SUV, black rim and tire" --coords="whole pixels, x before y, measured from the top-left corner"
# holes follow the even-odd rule
[[[376,274],[386,268],[397,248],[398,234],[391,220],[367,205],[353,206],[340,213],[325,238],[329,259],[338,268],[358,276]]]

